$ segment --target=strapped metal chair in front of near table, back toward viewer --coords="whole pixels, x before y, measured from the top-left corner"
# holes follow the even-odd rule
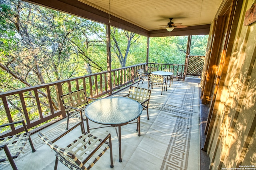
[[[71,170],[90,170],[108,149],[110,150],[110,167],[113,168],[114,164],[110,133],[104,139],[100,139],[88,132],[84,133],[81,122],[76,124],[76,127],[79,124],[81,126],[82,135],[64,148],[58,147],[54,142],[61,139],[61,137],[74,129],[74,127],[68,129],[68,131],[65,131],[52,141],[42,133],[38,133],[41,140],[56,152],[54,170],[57,170],[58,161]]]

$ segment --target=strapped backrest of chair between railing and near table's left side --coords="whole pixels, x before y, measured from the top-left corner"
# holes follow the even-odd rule
[[[70,106],[75,108],[81,108],[89,104],[84,89],[76,90],[68,94],[60,96],[64,106]],[[66,112],[71,112],[73,109],[65,107]]]

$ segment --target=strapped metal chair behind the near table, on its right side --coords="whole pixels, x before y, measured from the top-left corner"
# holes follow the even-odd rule
[[[151,90],[147,88],[140,88],[136,86],[130,86],[128,94],[123,97],[128,97],[130,99],[136,100],[142,105],[143,110],[147,111],[148,116],[148,104],[150,100]],[[149,120],[149,116],[148,116]]]

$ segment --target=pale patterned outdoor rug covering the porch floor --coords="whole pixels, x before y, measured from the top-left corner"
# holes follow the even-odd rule
[[[142,84],[146,86],[146,84]],[[122,126],[122,162],[118,162],[118,140],[114,127],[106,127],[91,131],[103,137],[111,133],[114,168],[117,170],[199,170],[200,136],[199,136],[199,89],[196,83],[174,81],[168,91],[160,95],[159,87],[152,90],[149,105],[150,120],[146,111],[141,115],[141,136],[138,137],[136,124]],[[122,91],[115,96],[123,96]],[[71,125],[76,119],[71,119]],[[90,123],[90,127],[99,124]],[[53,139],[65,129],[66,120],[42,130],[49,139]],[[62,147],[73,141],[81,131],[74,129],[57,141]],[[14,159],[19,170],[52,170],[55,153],[46,146],[37,134],[32,135],[36,152],[32,153],[30,145],[26,145],[24,153]],[[11,170],[6,162],[0,163],[0,169]],[[58,169],[68,169],[61,163]],[[110,168],[109,151],[94,165],[92,169]]]

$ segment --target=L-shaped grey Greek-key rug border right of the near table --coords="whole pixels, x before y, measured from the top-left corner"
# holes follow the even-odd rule
[[[189,111],[181,111],[170,107],[151,104],[150,107],[177,115],[168,148],[162,162],[161,170],[186,170],[190,148],[192,115]]]

